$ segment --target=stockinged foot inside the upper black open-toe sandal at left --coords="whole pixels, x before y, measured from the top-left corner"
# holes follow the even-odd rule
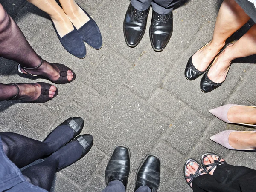
[[[38,66],[39,65],[40,65],[40,63],[38,64]],[[53,83],[55,83],[55,81],[57,81],[61,77],[60,69],[55,65],[55,63],[49,63],[46,60],[42,60],[42,65],[39,66],[37,69],[29,69],[29,68],[23,69],[23,67],[21,66],[20,70],[24,74],[28,74],[27,72],[29,72],[32,75],[41,75],[41,76],[47,77]],[[74,74],[73,74],[72,70],[69,69],[66,72],[67,72],[67,74],[65,74],[65,75],[67,75],[66,76],[67,81],[68,82],[72,81],[74,78]]]

